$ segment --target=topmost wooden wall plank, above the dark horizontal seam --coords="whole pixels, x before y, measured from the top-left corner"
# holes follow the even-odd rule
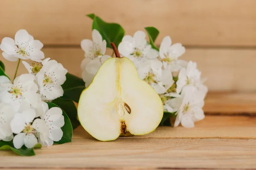
[[[255,0],[16,0],[1,1],[0,39],[27,29],[47,45],[79,45],[91,37],[90,18],[120,23],[127,34],[155,26],[156,43],[200,46],[256,46]],[[111,12],[110,12],[111,11]]]

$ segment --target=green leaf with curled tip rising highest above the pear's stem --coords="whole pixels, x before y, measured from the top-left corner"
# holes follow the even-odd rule
[[[96,29],[102,35],[103,40],[106,40],[107,47],[112,48],[110,43],[113,42],[116,47],[122,41],[125,35],[125,30],[117,23],[106,23],[95,14],[88,14],[88,17],[93,19],[92,29]]]

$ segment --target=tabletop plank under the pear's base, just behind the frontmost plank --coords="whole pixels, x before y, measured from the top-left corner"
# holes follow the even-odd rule
[[[255,116],[206,116],[191,129],[179,127],[158,127],[154,132],[131,138],[220,138],[256,139]],[[74,138],[92,138],[82,127],[78,127]]]

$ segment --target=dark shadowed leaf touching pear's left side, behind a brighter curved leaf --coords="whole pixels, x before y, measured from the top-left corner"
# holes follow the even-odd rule
[[[52,101],[55,105],[60,107],[70,118],[73,130],[80,125],[80,122],[77,120],[77,109],[76,105],[72,100],[57,98]]]

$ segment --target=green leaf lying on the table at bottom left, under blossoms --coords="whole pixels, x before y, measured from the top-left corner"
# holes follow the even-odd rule
[[[42,145],[40,143],[36,144],[34,148],[41,148]],[[17,153],[20,156],[33,156],[35,155],[33,148],[26,148],[25,146],[21,147],[20,149],[16,149],[13,146],[12,141],[0,141],[0,150],[12,150],[13,152]]]

